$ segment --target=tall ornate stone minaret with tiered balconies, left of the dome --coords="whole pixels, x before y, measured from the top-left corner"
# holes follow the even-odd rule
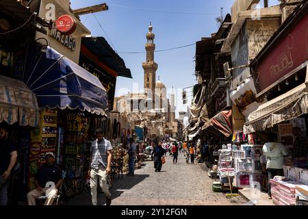
[[[147,39],[147,42],[145,44],[146,62],[142,62],[142,67],[144,69],[144,92],[149,93],[149,90],[151,90],[152,95],[154,95],[155,94],[155,82],[156,82],[156,70],[158,66],[154,62],[155,34],[152,33],[152,29],[153,27],[152,27],[152,24],[150,23],[149,33],[146,34],[146,39]]]

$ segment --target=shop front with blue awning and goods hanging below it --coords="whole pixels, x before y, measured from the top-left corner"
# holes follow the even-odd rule
[[[31,132],[29,190],[34,175],[51,151],[64,170],[64,196],[82,191],[95,129],[107,117],[107,92],[94,75],[51,47],[34,47],[25,81],[36,94],[41,123]],[[32,61],[30,61],[32,60]]]

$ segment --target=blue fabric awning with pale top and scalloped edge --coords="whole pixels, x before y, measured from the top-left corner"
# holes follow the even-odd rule
[[[39,107],[106,116],[107,93],[97,77],[51,47],[32,54],[27,60],[25,82],[36,93]]]

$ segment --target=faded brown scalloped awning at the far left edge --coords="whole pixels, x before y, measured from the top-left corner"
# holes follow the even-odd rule
[[[39,110],[36,95],[25,83],[0,75],[0,123],[37,127]]]

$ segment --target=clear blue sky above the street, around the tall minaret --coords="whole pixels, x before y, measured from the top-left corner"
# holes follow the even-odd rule
[[[201,37],[210,36],[218,29],[216,17],[220,8],[224,15],[231,11],[234,0],[70,0],[71,8],[77,9],[99,3],[107,3],[109,10],[81,16],[81,22],[90,29],[92,36],[103,36],[123,58],[131,69],[133,79],[118,77],[116,96],[123,94],[123,88],[133,91],[133,83],[143,88],[142,62],[145,53],[123,54],[123,52],[145,51],[145,34],[152,22],[156,50],[193,44]],[[270,0],[274,3],[277,0]],[[154,12],[155,11],[155,12]],[[164,13],[183,12],[183,13]],[[187,14],[189,13],[189,14]],[[192,13],[192,14],[190,14]],[[186,88],[196,83],[194,77],[194,54],[196,46],[155,53],[158,64],[157,75],[168,88]],[[177,110],[186,110],[177,96]]]

